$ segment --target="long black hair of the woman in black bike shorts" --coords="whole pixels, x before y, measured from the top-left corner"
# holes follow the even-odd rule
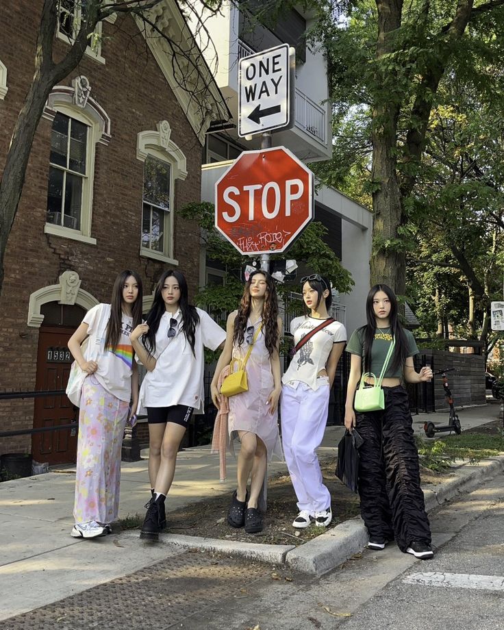
[[[166,282],[166,278],[172,276],[177,280],[180,289],[179,309],[182,314],[182,331],[191,346],[192,354],[196,356],[194,353],[194,339],[196,336],[196,327],[199,324],[199,315],[196,308],[189,304],[187,281],[184,274],[174,269],[165,271],[155,287],[154,300],[151,310],[147,315],[149,332],[142,336],[142,342],[147,350],[147,353],[149,353],[149,356],[153,356],[155,353],[155,333],[157,333],[157,329],[160,327],[160,321],[163,314],[166,313],[166,306],[161,292],[164,283]]]

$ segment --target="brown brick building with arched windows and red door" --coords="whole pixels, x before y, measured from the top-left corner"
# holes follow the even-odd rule
[[[71,43],[79,3],[64,7],[55,57]],[[8,25],[0,38],[0,169],[34,73],[41,8],[42,0],[0,3],[0,23]],[[49,96],[5,255],[0,394],[64,386],[66,341],[89,307],[110,301],[124,268],[142,276],[146,306],[166,266],[197,290],[199,228],[177,210],[200,200],[205,132],[228,110],[175,0],[157,5],[152,17],[185,48],[177,64],[161,36],[118,14],[99,25],[97,45]],[[189,79],[190,68],[199,68],[192,93],[180,87],[175,66],[182,74],[189,68]],[[0,399],[0,431],[74,417],[66,396]],[[69,430],[38,433],[33,443],[29,435],[0,438],[0,455],[71,462],[75,443]]]

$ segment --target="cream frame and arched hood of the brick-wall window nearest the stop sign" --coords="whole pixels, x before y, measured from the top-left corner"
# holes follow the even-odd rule
[[[142,244],[142,218],[143,218],[143,173],[142,173],[142,199],[140,205],[140,256],[152,258],[160,262],[178,265],[179,261],[173,257],[175,240],[175,180],[186,179],[186,156],[177,144],[170,139],[171,128],[167,121],[157,123],[157,131],[140,131],[137,136],[136,157],[140,162],[145,162],[147,155],[157,160],[167,162],[170,166],[170,210],[164,210],[170,214],[170,230],[164,234],[163,251],[153,251]]]

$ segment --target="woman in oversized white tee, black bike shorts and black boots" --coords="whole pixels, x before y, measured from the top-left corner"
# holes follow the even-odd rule
[[[166,527],[164,500],[180,442],[194,409],[203,409],[203,347],[215,350],[225,338],[209,314],[188,303],[184,275],[166,271],[155,288],[147,323],[131,333],[138,360],[147,368],[138,410],[147,408],[152,496],[140,538],[158,540],[160,529]]]

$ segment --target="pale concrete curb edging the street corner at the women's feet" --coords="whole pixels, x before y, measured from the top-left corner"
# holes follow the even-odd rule
[[[453,471],[453,479],[444,481],[438,486],[423,488],[426,512],[431,512],[456,494],[472,490],[503,470],[504,455],[481,459],[478,464],[464,464],[456,468]],[[138,534],[131,533],[131,535]],[[164,544],[182,546],[185,549],[227,553],[234,557],[266,564],[286,564],[289,568],[318,577],[362,551],[368,542],[368,533],[360,516],[356,516],[300,546],[237,543],[181,534],[164,534],[161,541]]]

